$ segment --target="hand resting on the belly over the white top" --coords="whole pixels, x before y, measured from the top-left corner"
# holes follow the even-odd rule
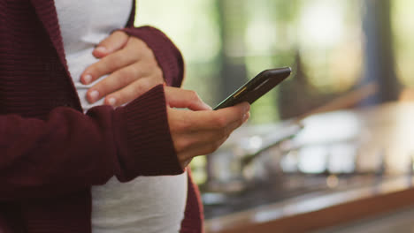
[[[152,50],[124,32],[116,31],[101,41],[93,55],[100,60],[83,71],[80,81],[86,85],[103,75],[109,76],[89,88],[90,103],[105,96],[105,104],[117,107],[164,82]]]

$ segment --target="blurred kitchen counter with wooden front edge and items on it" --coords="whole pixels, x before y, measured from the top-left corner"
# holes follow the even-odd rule
[[[248,188],[207,201],[206,232],[309,232],[414,207],[413,103],[320,114],[303,125],[258,158],[252,174],[271,172],[215,177]]]

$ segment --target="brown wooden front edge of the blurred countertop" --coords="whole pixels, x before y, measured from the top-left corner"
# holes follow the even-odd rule
[[[414,188],[409,183],[408,177],[401,177],[356,190],[314,193],[211,219],[206,222],[206,232],[308,232],[323,229],[414,206]]]

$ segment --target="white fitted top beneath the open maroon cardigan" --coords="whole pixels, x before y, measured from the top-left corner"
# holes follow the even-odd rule
[[[131,0],[55,0],[65,54],[82,108],[88,110],[88,87],[80,74],[97,59],[92,51],[114,29],[126,25]],[[137,177],[121,184],[112,177],[92,187],[92,232],[178,232],[187,201],[187,174]]]

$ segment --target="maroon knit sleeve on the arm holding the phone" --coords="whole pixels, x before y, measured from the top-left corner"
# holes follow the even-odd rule
[[[126,107],[0,115],[0,201],[47,198],[137,176],[182,172],[159,85]]]

